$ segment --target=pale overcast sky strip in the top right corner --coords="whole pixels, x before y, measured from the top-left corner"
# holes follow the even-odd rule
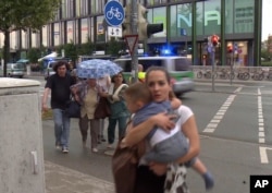
[[[261,40],[268,39],[269,34],[272,35],[272,0],[262,1],[262,34]]]

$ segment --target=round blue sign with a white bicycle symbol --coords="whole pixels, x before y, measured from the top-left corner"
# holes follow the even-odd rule
[[[124,8],[116,0],[111,0],[106,3],[103,14],[107,23],[111,26],[121,25],[125,19]]]

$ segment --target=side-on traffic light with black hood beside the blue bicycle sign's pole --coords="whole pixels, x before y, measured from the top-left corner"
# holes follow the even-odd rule
[[[146,20],[147,9],[138,3],[138,35],[139,40],[149,38],[152,34],[163,31],[163,24],[148,24]]]

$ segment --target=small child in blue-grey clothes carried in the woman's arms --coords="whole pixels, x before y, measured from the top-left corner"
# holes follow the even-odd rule
[[[174,113],[174,106],[181,105],[180,100],[153,102],[148,87],[143,83],[135,83],[125,91],[125,100],[127,109],[134,113],[132,123],[133,126],[146,121],[149,117],[161,112]],[[173,107],[172,107],[173,106]],[[180,121],[181,116],[175,113]],[[147,161],[156,162],[173,162],[180,157],[183,157],[188,150],[188,141],[183,134],[180,124],[171,130],[169,133],[154,126],[147,135],[147,141],[151,149],[145,154]],[[186,162],[186,166],[191,166],[196,171],[202,174],[206,183],[206,189],[210,190],[214,185],[212,174],[207,170],[206,166],[199,158],[194,158]]]

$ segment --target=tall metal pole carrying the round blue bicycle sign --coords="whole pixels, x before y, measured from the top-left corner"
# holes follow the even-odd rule
[[[138,34],[138,3],[135,0],[131,1],[132,5],[132,17],[131,17],[131,24],[132,24],[132,34],[136,35]],[[132,53],[132,81],[133,83],[137,82],[138,77],[138,39],[135,43],[134,51]]]

